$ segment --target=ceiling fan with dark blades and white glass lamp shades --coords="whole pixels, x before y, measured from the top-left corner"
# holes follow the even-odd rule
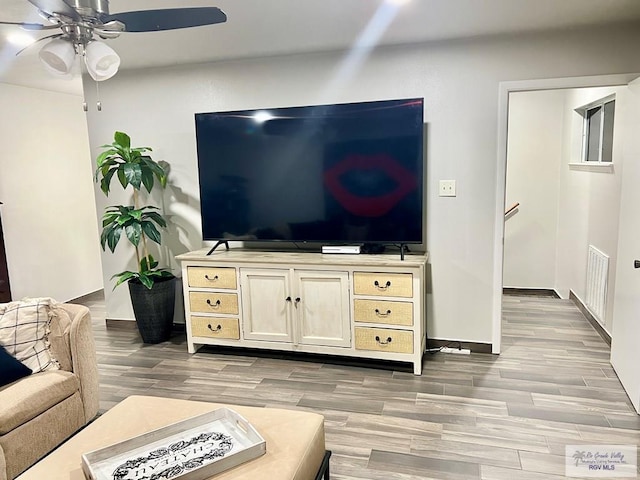
[[[59,29],[59,33],[37,40],[40,42],[51,39],[40,50],[40,59],[47,70],[58,75],[70,75],[76,56],[80,56],[88,73],[96,81],[113,77],[120,66],[118,54],[98,39],[117,38],[123,32],[175,30],[214,25],[227,20],[225,13],[216,7],[169,8],[111,14],[109,0],[28,1],[38,9],[48,24],[0,21],[0,25],[18,25],[26,30]]]

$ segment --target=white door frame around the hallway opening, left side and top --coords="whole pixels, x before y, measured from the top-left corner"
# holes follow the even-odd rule
[[[507,189],[507,142],[509,138],[509,94],[536,90],[560,90],[627,85],[638,78],[638,73],[594,75],[587,77],[518,80],[498,84],[498,152],[496,168],[496,198],[493,242],[493,301],[492,301],[492,353],[501,351],[502,342],[502,288],[504,266],[504,209]]]

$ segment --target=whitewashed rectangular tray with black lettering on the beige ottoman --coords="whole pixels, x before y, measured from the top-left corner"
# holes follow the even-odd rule
[[[90,480],[204,480],[266,453],[238,413],[219,408],[82,455]]]

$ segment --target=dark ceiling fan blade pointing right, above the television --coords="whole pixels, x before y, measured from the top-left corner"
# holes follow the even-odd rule
[[[154,32],[224,23],[227,16],[216,7],[195,7],[121,12],[103,15],[100,20],[122,22],[126,32]]]

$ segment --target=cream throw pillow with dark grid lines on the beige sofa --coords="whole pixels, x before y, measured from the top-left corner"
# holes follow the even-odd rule
[[[29,298],[0,304],[0,346],[33,373],[57,370],[49,352],[51,298]]]

